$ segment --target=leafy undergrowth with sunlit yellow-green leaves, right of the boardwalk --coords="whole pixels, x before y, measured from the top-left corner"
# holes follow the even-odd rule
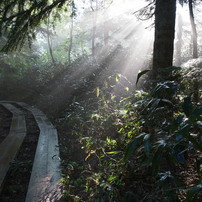
[[[200,200],[202,106],[196,94],[186,95],[192,80],[185,84],[179,68],[167,71],[172,73],[169,79],[153,81],[152,88],[144,91],[133,90],[125,77],[114,74],[94,88],[94,96],[75,97],[65,124],[85,157],[80,163],[67,163],[62,179],[64,198]],[[197,101],[201,99],[199,89]],[[188,165],[192,184],[182,174],[189,172]]]

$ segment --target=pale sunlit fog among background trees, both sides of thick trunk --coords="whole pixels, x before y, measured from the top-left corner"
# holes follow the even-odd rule
[[[200,5],[195,9],[195,22],[198,53],[201,56],[199,10]],[[187,4],[177,4],[175,27],[173,64],[180,66],[192,58],[192,33]],[[95,71],[99,72],[96,77],[98,84],[103,84],[111,74],[123,79],[126,88],[129,85],[134,88],[138,72],[152,68],[154,4],[142,0],[75,0],[74,5],[69,5],[65,10],[53,11],[35,33],[36,39],[32,41],[30,50],[25,44],[21,52],[1,55],[2,60],[6,61],[4,63],[9,65],[9,68],[3,69],[3,77],[11,75],[13,78],[15,74],[14,77],[25,77],[31,86],[36,86],[38,84],[32,84],[32,81],[48,82],[51,74],[67,67],[70,71],[62,73],[61,70],[64,78],[61,77],[59,81],[58,77],[57,83],[52,82],[51,91],[46,92],[51,97],[62,90],[60,82],[68,85],[68,82],[77,81],[75,85],[83,85],[83,81]],[[73,91],[74,88],[69,88],[68,94],[72,95]]]

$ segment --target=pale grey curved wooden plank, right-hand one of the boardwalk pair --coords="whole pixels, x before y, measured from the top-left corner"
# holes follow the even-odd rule
[[[57,201],[61,198],[57,130],[40,110],[25,103],[18,104],[32,112],[40,129],[26,202]]]

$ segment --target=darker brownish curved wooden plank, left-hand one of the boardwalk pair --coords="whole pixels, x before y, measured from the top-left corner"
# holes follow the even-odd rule
[[[25,136],[26,123],[25,116],[22,111],[11,104],[0,103],[12,114],[12,122],[9,135],[0,144],[0,190],[2,188],[6,173],[10,167],[10,163],[14,160]]]

